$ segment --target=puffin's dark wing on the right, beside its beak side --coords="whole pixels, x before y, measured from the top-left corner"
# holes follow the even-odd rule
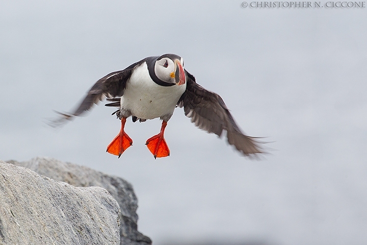
[[[180,97],[177,106],[183,107],[185,115],[191,117],[191,121],[197,127],[218,136],[226,130],[228,143],[246,156],[264,153],[256,138],[241,132],[221,96],[198,85],[189,72],[187,77],[186,91]]]

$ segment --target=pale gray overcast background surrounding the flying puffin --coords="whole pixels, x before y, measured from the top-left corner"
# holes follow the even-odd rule
[[[312,2],[313,3],[313,2]],[[248,2],[250,4],[250,2]],[[367,243],[367,10],[247,8],[242,1],[0,1],[0,159],[48,156],[123,177],[155,245],[191,241]],[[197,129],[177,108],[171,156],[145,140],[159,119],[120,129],[104,103],[55,130],[109,72],[177,54],[239,126],[267,136],[263,160]]]

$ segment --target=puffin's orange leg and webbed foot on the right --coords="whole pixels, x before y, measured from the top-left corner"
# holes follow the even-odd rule
[[[147,139],[146,145],[148,146],[149,151],[153,154],[154,158],[157,157],[168,157],[169,149],[164,139],[164,130],[167,126],[167,121],[162,122],[161,132],[153,137]]]

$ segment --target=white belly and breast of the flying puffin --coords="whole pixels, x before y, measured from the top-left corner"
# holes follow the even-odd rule
[[[153,82],[146,63],[137,67],[126,82],[121,108],[141,119],[172,115],[186,83],[164,87]]]

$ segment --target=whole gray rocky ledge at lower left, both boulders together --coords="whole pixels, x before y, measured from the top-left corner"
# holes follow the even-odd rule
[[[151,244],[137,230],[138,201],[125,180],[52,158],[7,162],[0,244]]]

